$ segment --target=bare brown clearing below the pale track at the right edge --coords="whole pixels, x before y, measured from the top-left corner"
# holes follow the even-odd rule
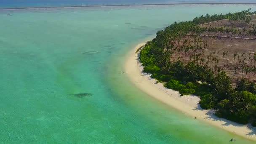
[[[254,80],[253,74],[246,74],[245,72],[243,72],[243,70],[241,70],[239,61],[241,60],[242,53],[245,53],[246,60],[244,62],[249,63],[249,57],[251,57],[252,59],[253,53],[256,52],[256,40],[216,38],[213,45],[208,47],[208,49],[206,50],[206,55],[210,55],[210,53],[213,53],[214,51],[219,51],[218,67],[224,69],[227,74],[232,78],[233,82],[235,82],[236,80],[240,80],[242,77]],[[227,56],[224,56],[224,58],[223,51],[228,51]],[[235,60],[234,53],[237,53]],[[238,56],[240,56],[239,60]],[[234,67],[237,67],[236,72]]]

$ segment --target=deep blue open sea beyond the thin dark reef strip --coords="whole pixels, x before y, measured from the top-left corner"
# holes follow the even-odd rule
[[[0,0],[0,8],[72,5],[134,5],[156,3],[255,3],[255,0]]]

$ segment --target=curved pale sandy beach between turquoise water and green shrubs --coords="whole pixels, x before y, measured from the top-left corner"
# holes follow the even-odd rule
[[[128,77],[138,88],[155,99],[191,117],[197,117],[197,119],[203,120],[206,123],[256,141],[256,128],[253,128],[250,124],[241,125],[216,117],[213,114],[213,110],[200,108],[198,104],[200,101],[199,97],[193,95],[180,96],[178,91],[165,88],[162,83],[156,83],[156,80],[152,79],[150,74],[143,73],[143,66],[141,66],[138,60],[138,53],[135,53],[136,50],[143,45],[145,45],[145,42],[136,45],[136,47],[128,53],[128,57],[125,61],[125,70],[128,72]]]

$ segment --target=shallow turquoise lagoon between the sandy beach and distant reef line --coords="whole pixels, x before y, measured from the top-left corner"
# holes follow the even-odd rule
[[[174,21],[253,5],[0,11],[0,143],[253,144],[147,96],[123,71]],[[79,98],[77,93],[91,93]],[[248,133],[253,134],[253,133]]]

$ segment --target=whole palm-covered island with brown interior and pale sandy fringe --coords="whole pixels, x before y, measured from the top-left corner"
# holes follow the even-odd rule
[[[210,109],[216,117],[255,127],[255,14],[250,8],[237,13],[212,16],[206,14],[196,17],[193,21],[175,22],[158,31],[153,40],[137,46],[139,49],[136,49],[136,53],[139,53],[136,61],[143,66],[143,72],[149,73],[150,77],[155,79],[154,85],[163,83],[165,88],[179,91],[181,98],[187,95],[196,96],[200,98],[197,101],[200,108]],[[126,65],[131,64],[130,61]],[[131,75],[136,74],[133,72]],[[135,78],[133,81],[136,85],[145,84]],[[163,88],[158,91],[162,91],[163,95],[153,93],[143,85],[141,89],[148,94],[159,95],[154,97],[166,104],[174,107],[181,104],[176,98],[170,99],[172,101],[160,98],[160,95],[167,93]],[[190,108],[186,107],[186,104],[181,107],[183,108],[178,109],[186,113],[194,110],[186,109]],[[220,125],[222,126],[224,124]],[[233,128],[235,127],[237,125]],[[251,131],[248,128],[244,130]],[[248,135],[243,133],[245,131],[239,133],[239,129],[233,131],[229,128],[228,131]]]

